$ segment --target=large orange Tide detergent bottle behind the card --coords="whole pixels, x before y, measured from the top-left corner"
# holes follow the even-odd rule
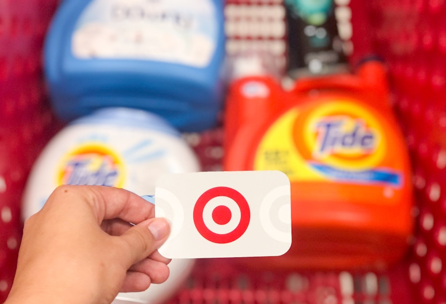
[[[386,76],[371,60],[355,74],[301,78],[291,90],[268,75],[232,82],[224,169],[280,170],[292,189],[290,251],[244,262],[382,270],[404,255],[413,229],[411,169]]]

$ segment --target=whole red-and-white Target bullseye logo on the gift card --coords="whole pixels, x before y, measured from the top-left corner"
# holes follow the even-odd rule
[[[230,187],[207,190],[193,209],[193,222],[199,234],[218,244],[240,238],[248,229],[250,220],[251,210],[246,198]]]

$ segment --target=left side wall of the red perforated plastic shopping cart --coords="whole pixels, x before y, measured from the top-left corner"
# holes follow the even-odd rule
[[[0,302],[12,285],[29,169],[54,133],[42,82],[42,43],[55,0],[0,0]]]

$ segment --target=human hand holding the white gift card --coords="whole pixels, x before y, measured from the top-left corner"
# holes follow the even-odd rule
[[[136,224],[133,226],[130,223]],[[111,303],[169,276],[166,219],[124,189],[63,185],[26,222],[6,303]]]

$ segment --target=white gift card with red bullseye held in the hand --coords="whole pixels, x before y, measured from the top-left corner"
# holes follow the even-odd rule
[[[161,176],[155,216],[171,222],[168,258],[278,256],[291,246],[291,193],[280,171]]]

